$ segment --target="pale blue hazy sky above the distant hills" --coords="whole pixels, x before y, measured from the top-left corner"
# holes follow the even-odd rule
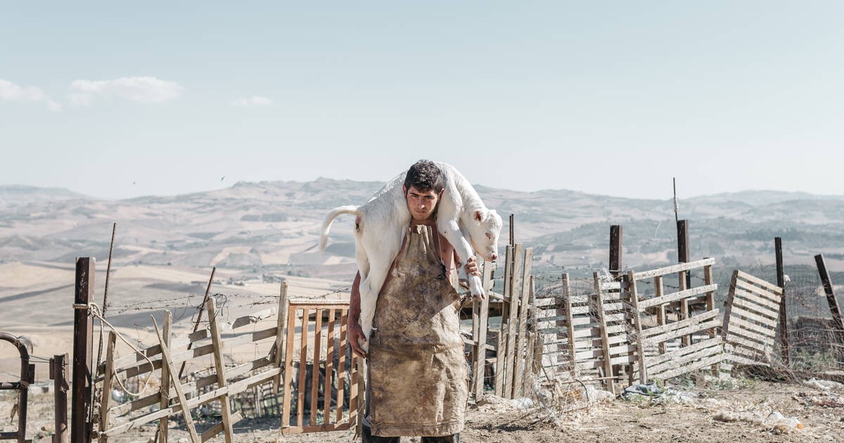
[[[841,2],[0,3],[0,184],[844,194]],[[220,178],[225,176],[224,181]],[[133,183],[134,182],[134,183]]]

